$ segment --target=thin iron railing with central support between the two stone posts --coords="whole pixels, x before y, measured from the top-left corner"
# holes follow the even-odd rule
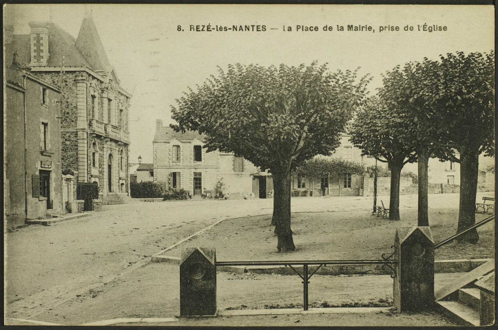
[[[302,279],[303,284],[303,309],[304,311],[308,310],[308,285],[309,279],[313,276],[322,266],[326,265],[340,265],[340,266],[352,266],[352,265],[382,265],[382,268],[388,267],[393,274],[391,274],[391,278],[396,277],[395,265],[397,261],[391,259],[396,253],[395,245],[392,245],[391,248],[394,248],[394,252],[389,256],[382,254],[382,259],[370,259],[370,260],[289,260],[289,261],[216,261],[216,267],[221,266],[285,266],[290,267],[291,270],[298,274],[298,276]],[[302,265],[303,272],[300,274],[298,270],[296,270],[293,266]],[[309,273],[309,266],[316,265],[318,267]]]

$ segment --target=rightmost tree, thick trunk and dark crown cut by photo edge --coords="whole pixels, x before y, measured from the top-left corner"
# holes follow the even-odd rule
[[[494,63],[494,52],[457,52],[440,56],[437,62],[424,59],[424,66],[432,69],[426,71],[417,98],[426,104],[426,117],[435,126],[439,143],[444,143],[442,159],[461,164],[457,232],[475,223],[479,155],[495,153]],[[459,241],[477,243],[477,230]]]

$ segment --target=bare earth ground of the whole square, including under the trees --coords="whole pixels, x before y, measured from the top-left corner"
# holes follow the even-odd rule
[[[416,223],[416,195],[402,196],[402,223],[371,216],[368,197],[297,197],[292,201],[296,251],[278,254],[273,239],[271,199],[133,201],[56,225],[30,225],[6,234],[6,322],[37,320],[61,325],[115,318],[178,316],[178,265],[153,263],[151,256],[199,230],[209,230],[163,254],[179,256],[191,246],[214,246],[220,261],[254,259],[377,258],[389,252],[395,227]],[[386,199],[386,197],[380,197]],[[430,195],[435,242],[455,232],[458,195]],[[189,212],[185,212],[189,210]],[[486,217],[478,214],[478,219]],[[316,230],[319,229],[319,230]],[[486,259],[494,254],[492,223],[479,228],[475,245],[447,245],[436,260]],[[355,237],[356,239],[352,239]],[[104,243],[105,242],[105,243]],[[22,250],[23,253],[17,251]],[[435,286],[460,273],[436,274]],[[37,281],[30,281],[37,278]],[[388,275],[315,275],[311,307],[390,307]],[[295,275],[219,272],[218,309],[302,307]],[[243,295],[240,293],[244,292]],[[353,321],[354,320],[354,321]],[[222,316],[176,319],[165,325],[453,325],[440,314],[322,314]],[[301,324],[302,323],[302,324]],[[145,325],[145,322],[138,322]],[[154,323],[160,325],[160,323]]]

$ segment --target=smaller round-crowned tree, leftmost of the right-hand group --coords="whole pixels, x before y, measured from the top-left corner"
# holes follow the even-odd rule
[[[384,81],[384,88],[386,82]],[[386,162],[391,170],[389,219],[400,220],[400,177],[403,166],[415,162],[416,141],[407,133],[411,122],[383,98],[373,97],[360,108],[351,124],[351,142],[362,149],[362,155]]]

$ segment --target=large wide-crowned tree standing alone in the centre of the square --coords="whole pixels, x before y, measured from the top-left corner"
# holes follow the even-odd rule
[[[291,170],[330,155],[351,111],[362,103],[369,78],[326,65],[229,65],[227,72],[178,99],[176,131],[207,135],[207,151],[242,155],[273,176],[277,249],[295,250],[291,234]]]

